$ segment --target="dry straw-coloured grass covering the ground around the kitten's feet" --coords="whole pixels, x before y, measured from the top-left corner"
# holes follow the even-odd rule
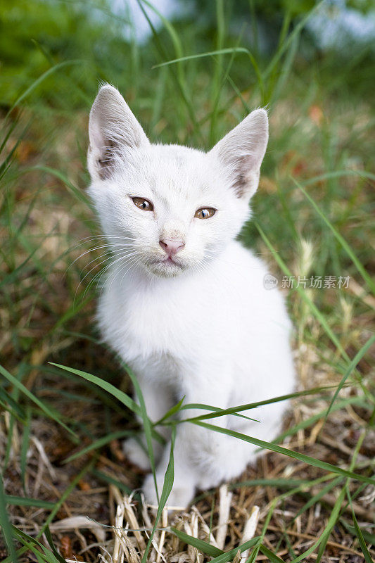
[[[329,366],[314,369],[313,351],[299,350],[298,358],[308,358],[305,366],[310,379],[314,372],[314,384],[324,382],[337,383]],[[42,379],[39,376],[39,384]],[[311,379],[310,379],[311,383]],[[56,381],[56,386],[70,392],[80,393],[76,381]],[[87,391],[86,391],[87,393]],[[355,388],[348,387],[342,396],[355,395]],[[46,396],[46,395],[45,395]],[[51,397],[50,397],[51,398]],[[288,426],[301,422],[326,407],[324,401],[294,400],[288,415]],[[84,410],[79,402],[69,405],[69,416],[84,420],[93,434],[98,435],[101,427],[99,416],[100,405],[89,404]],[[367,421],[362,417],[364,412],[358,407],[347,407],[333,413],[323,424],[320,418],[310,428],[298,432],[293,438],[285,438],[284,447],[301,450],[321,460],[348,467],[355,443]],[[122,424],[118,415],[119,424]],[[5,447],[6,421],[0,426],[0,443]],[[56,502],[68,487],[74,476],[84,467],[90,455],[63,464],[77,450],[70,441],[61,434],[61,429],[46,419],[34,419],[31,428],[32,439],[27,452],[26,493],[32,498]],[[82,444],[80,445],[82,448]],[[20,495],[19,466],[20,438],[17,426],[13,426],[13,449],[11,462],[4,475],[7,493]],[[363,444],[358,462],[362,468],[371,464],[375,454],[375,431],[370,431]],[[111,443],[102,455],[98,456],[95,468],[102,474],[123,483],[129,488],[138,488],[143,478],[142,472],[130,466],[123,459],[120,445]],[[248,467],[239,482],[254,479],[302,479],[312,481],[322,476],[317,468],[313,468],[274,453],[265,453],[258,459],[255,467]],[[298,513],[310,495],[317,494],[326,483],[316,484],[312,488],[306,486],[305,492],[277,500],[284,489],[277,486],[230,486],[223,485],[218,491],[203,493],[196,499],[188,512],[168,514],[163,511],[161,521],[153,538],[153,548],[149,554],[150,562],[167,563],[203,563],[210,557],[198,552],[191,545],[186,545],[170,531],[170,526],[200,538],[225,551],[237,548],[241,543],[261,532],[270,507],[276,507],[265,532],[264,543],[279,557],[288,560],[293,550],[295,556],[306,550],[322,533],[336,502],[337,488],[322,496],[319,502],[312,505],[306,512]],[[350,483],[350,491],[355,494],[357,484]],[[367,486],[355,498],[354,507],[362,529],[371,532],[374,519],[375,488]],[[30,535],[35,535],[44,523],[48,510],[33,507],[10,507],[11,517],[15,526],[20,526]],[[56,545],[67,560],[84,560],[93,562],[100,557],[106,563],[139,563],[146,548],[146,543],[154,522],[155,511],[141,507],[134,495],[120,492],[118,486],[103,483],[96,475],[87,474],[80,481],[68,499],[62,503],[56,514],[56,521],[51,525]],[[351,524],[350,509],[343,512],[343,520]],[[210,529],[210,524],[212,528]],[[375,551],[371,551],[375,555]],[[70,557],[68,557],[70,556]],[[240,555],[236,555],[239,562]],[[243,561],[246,553],[242,554]],[[326,561],[362,562],[363,556],[355,537],[348,533],[342,521],[332,531],[326,546]],[[314,554],[310,556],[314,559]],[[257,560],[267,557],[258,554]]]

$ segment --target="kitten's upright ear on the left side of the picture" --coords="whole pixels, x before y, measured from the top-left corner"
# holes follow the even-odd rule
[[[89,118],[89,153],[91,177],[111,177],[119,159],[126,152],[149,144],[144,130],[132,114],[120,92],[110,84],[98,91]]]

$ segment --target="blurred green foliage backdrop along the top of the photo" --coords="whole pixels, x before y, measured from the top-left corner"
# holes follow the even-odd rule
[[[272,3],[202,0],[195,9],[187,11],[183,20],[174,23],[174,27],[182,55],[210,51],[220,42],[217,11],[222,9],[222,33],[226,35],[227,45],[246,46],[262,64],[262,61],[267,63],[288,30],[293,30],[315,4],[314,0],[277,0]],[[368,6],[367,2],[360,1],[351,4],[362,10]],[[264,45],[259,48],[260,27],[262,36],[267,37],[266,49]],[[117,13],[111,11],[109,0],[14,0],[0,5],[0,104],[5,107],[10,106],[43,72],[63,61],[72,61],[72,64],[43,80],[28,96],[27,103],[42,101],[62,110],[87,107],[98,80],[131,90],[130,96],[136,97],[139,89],[146,87],[139,69],[148,69],[149,80],[154,80],[158,73],[152,69],[153,65],[177,55],[173,39],[163,27],[144,44],[132,40],[132,22],[126,1]],[[323,80],[327,84],[340,65],[345,83],[350,84],[353,91],[360,88],[362,95],[372,79],[366,62],[368,56],[366,51],[353,53],[353,58],[345,61],[338,60],[332,53],[319,53],[309,34],[303,31],[296,63],[303,68],[303,65],[314,66],[319,61],[319,74],[326,72]],[[212,68],[209,59],[201,63],[206,70]],[[236,56],[231,65],[231,76],[240,88],[255,80],[246,65],[247,61],[241,56]],[[350,73],[354,67],[355,75]],[[358,72],[362,70],[358,80]],[[68,85],[70,81],[75,83],[74,89]]]

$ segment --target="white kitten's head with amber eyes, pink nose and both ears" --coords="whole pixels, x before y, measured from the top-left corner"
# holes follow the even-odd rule
[[[208,153],[155,145],[105,85],[89,139],[89,194],[119,264],[172,277],[214,260],[248,219],[268,121],[265,110],[253,111]]]

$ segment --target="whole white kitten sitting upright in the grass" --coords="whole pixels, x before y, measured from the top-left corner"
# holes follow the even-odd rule
[[[227,408],[290,393],[291,323],[265,265],[236,241],[250,216],[267,146],[265,110],[250,113],[209,153],[150,144],[120,93],[101,87],[90,113],[89,194],[115,258],[98,305],[103,338],[134,370],[148,416],[185,403]],[[213,424],[272,440],[285,403]],[[184,410],[184,418],[204,410]],[[181,415],[182,416],[182,415]],[[168,439],[165,427],[160,433]],[[177,426],[170,506],[239,476],[255,446],[191,423]],[[148,457],[136,441],[129,459]],[[159,493],[170,445],[155,441]],[[152,476],[146,499],[156,502]]]

